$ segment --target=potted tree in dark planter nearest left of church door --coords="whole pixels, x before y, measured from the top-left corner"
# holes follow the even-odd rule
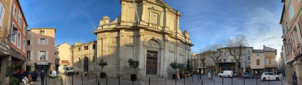
[[[133,59],[128,59],[128,64],[129,64],[130,67],[133,68],[133,74],[131,74],[131,81],[135,81],[136,80],[135,71],[136,71],[136,68],[140,65],[140,61],[136,61],[136,60],[133,60]]]

